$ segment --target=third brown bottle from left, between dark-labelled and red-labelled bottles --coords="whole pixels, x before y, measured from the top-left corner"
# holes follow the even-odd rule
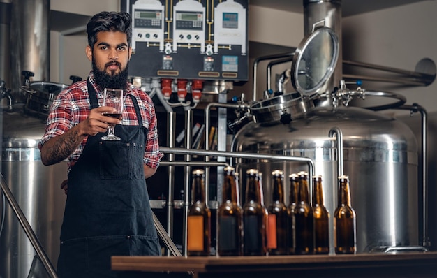
[[[246,199],[243,206],[243,254],[267,254],[266,215],[262,205],[258,170],[246,171]]]

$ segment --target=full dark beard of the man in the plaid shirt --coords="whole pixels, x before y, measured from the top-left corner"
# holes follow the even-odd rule
[[[126,89],[127,82],[128,82],[129,62],[128,62],[128,64],[126,64],[126,68],[124,68],[124,70],[122,70],[118,74],[114,73],[112,71],[111,71],[111,74],[108,74],[108,73],[106,73],[106,70],[105,70],[105,68],[107,66],[109,66],[110,64],[117,64],[117,66],[119,66],[119,68],[121,68],[121,64],[118,61],[113,61],[113,62],[110,62],[108,64],[105,64],[105,68],[103,69],[103,71],[100,71],[97,68],[96,61],[94,60],[94,58],[93,58],[92,64],[93,64],[94,78],[96,79],[96,83],[97,83],[98,87],[100,87],[101,89],[105,89],[105,88]]]

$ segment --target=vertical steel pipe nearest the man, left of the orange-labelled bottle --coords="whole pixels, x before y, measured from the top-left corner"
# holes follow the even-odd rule
[[[175,147],[175,134],[176,134],[176,113],[168,112],[168,146]],[[168,154],[168,161],[172,163],[175,160],[175,154]],[[175,166],[170,164],[167,169],[168,173],[168,193],[167,193],[167,233],[168,236],[173,237],[173,212],[174,212],[174,200],[175,200]],[[168,248],[168,251],[171,251]],[[170,253],[167,252],[167,256],[170,256]]]

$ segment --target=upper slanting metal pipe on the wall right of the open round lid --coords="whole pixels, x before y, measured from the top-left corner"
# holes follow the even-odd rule
[[[349,60],[343,60],[343,65],[350,65],[350,66],[360,66],[362,68],[371,68],[371,69],[376,69],[379,71],[387,71],[390,73],[398,73],[400,75],[403,75],[404,77],[410,77],[410,78],[415,78],[415,81],[410,81],[413,83],[416,83],[418,85],[430,85],[432,82],[434,82],[434,80],[436,79],[436,75],[431,75],[431,74],[427,74],[427,73],[419,73],[417,71],[405,71],[399,68],[391,68],[388,66],[378,66],[375,64],[368,64],[368,63],[363,63],[360,61],[349,61]],[[344,75],[343,75],[344,76]],[[361,78],[363,79],[363,78]],[[398,82],[401,82],[403,84],[405,84],[405,80],[401,80],[402,78],[399,78]],[[396,82],[396,79],[390,79],[390,82]]]

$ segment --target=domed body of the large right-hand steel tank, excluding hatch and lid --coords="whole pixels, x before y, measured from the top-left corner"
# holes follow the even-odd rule
[[[357,213],[357,251],[417,246],[417,141],[406,124],[364,108],[316,107],[289,124],[257,122],[255,117],[255,122],[237,132],[232,150],[305,156],[314,161],[314,174],[323,176],[325,205],[330,213],[330,252],[333,253],[332,214],[337,202],[339,159],[336,137],[329,136],[334,127],[343,134],[343,171],[350,177],[351,202]],[[242,173],[246,168],[258,168],[265,173],[266,205],[271,194],[269,173],[272,170],[281,169],[288,177],[309,169],[298,162],[239,162],[242,187],[245,184]],[[285,196],[288,193],[286,180]]]

